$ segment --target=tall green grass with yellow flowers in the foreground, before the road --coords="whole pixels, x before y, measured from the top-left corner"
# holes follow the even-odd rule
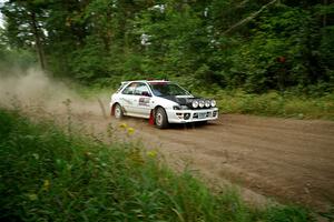
[[[140,144],[70,133],[0,110],[0,221],[314,220],[299,206],[247,205],[234,189],[213,194]]]

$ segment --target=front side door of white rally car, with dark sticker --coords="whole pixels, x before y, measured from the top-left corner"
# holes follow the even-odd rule
[[[135,89],[137,107],[135,112],[143,117],[149,117],[151,110],[151,94],[148,85],[144,82],[139,82]]]

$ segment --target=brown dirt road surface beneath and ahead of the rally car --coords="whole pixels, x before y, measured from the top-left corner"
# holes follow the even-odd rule
[[[120,122],[100,117],[86,123],[104,130]],[[334,122],[225,114],[207,125],[158,130],[126,118],[148,149],[171,165],[197,170],[215,183],[226,181],[283,203],[327,211],[334,203]]]

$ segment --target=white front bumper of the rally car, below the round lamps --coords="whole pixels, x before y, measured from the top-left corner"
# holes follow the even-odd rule
[[[169,123],[203,122],[218,119],[218,108],[198,110],[166,110]]]

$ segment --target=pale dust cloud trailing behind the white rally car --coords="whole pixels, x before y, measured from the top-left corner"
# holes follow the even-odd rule
[[[52,114],[62,114],[67,111],[66,101],[70,101],[73,113],[106,115],[108,98],[107,94],[99,94],[84,99],[63,82],[38,69],[10,75],[0,73],[0,107],[8,109],[39,108]]]

